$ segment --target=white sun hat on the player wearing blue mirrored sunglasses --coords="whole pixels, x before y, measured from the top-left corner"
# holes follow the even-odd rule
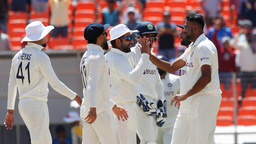
[[[124,24],[119,24],[114,26],[112,29],[110,29],[109,34],[110,34],[110,40],[108,41],[108,46],[111,46],[111,41],[115,40],[121,36],[123,36],[126,33],[134,33],[134,32],[139,32],[138,30],[130,30],[126,25]]]

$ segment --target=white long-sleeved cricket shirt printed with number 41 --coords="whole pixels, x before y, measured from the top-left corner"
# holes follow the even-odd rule
[[[48,82],[60,94],[74,99],[76,93],[65,86],[53,71],[44,47],[28,42],[12,59],[8,86],[7,109],[14,109],[17,87],[19,99],[24,97],[47,101]]]

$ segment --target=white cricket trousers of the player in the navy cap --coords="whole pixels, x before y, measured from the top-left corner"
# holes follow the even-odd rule
[[[103,111],[97,114],[97,118],[92,124],[85,122],[85,118],[82,118],[82,122],[82,144],[117,144],[117,139],[114,138],[108,111]]]

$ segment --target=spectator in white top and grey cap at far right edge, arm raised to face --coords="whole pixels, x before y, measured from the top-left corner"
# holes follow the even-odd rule
[[[240,73],[242,85],[242,98],[245,96],[248,84],[251,83],[251,87],[256,89],[256,39],[249,30],[252,28],[252,23],[248,23],[248,20],[239,22],[240,25],[247,26],[247,29],[241,29],[239,36],[233,38],[230,41],[230,45],[240,50]],[[241,102],[241,99],[240,99]]]

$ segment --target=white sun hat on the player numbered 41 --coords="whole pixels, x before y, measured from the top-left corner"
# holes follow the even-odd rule
[[[26,36],[21,40],[21,43],[24,41],[31,42],[31,41],[38,41],[43,39],[52,29],[53,26],[45,27],[42,22],[34,21],[28,24],[25,28]]]

